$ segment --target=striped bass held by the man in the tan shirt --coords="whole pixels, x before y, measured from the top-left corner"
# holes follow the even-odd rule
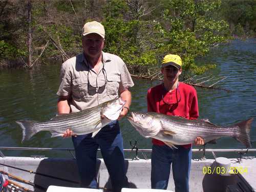
[[[94,137],[103,126],[117,120],[124,104],[125,101],[118,98],[77,113],[60,114],[49,121],[20,120],[16,123],[23,129],[22,142],[40,131],[50,131],[52,137],[57,137],[67,129],[72,130],[74,135],[93,133]]]

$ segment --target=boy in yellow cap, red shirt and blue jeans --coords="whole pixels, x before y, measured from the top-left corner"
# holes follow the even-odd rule
[[[181,116],[186,119],[199,117],[196,90],[186,83],[179,82],[181,66],[182,61],[178,55],[168,54],[163,58],[161,66],[163,83],[147,91],[148,112]],[[175,191],[188,192],[191,144],[175,145],[176,148],[170,148],[157,139],[153,139],[152,142],[152,188],[167,188],[172,164]],[[202,145],[204,141],[198,137],[195,139],[195,144]]]

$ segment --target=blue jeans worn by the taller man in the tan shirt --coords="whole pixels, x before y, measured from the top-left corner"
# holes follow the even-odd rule
[[[99,133],[92,138],[92,133],[72,137],[76,152],[81,186],[97,188],[96,157],[100,147],[103,160],[108,169],[114,192],[120,192],[127,186],[125,176],[123,138],[118,121],[104,126]]]

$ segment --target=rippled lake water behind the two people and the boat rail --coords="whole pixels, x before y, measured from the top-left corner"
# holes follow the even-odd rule
[[[196,88],[199,99],[200,118],[212,123],[230,125],[256,117],[256,39],[234,40],[214,48],[204,62],[214,62],[217,68],[213,76],[226,76],[218,87],[230,90]],[[71,139],[51,138],[49,132],[40,132],[29,141],[21,143],[22,130],[15,120],[48,120],[56,114],[57,89],[60,65],[50,63],[39,70],[0,71],[0,146],[73,148]],[[207,74],[208,75],[208,74]],[[131,89],[131,111],[146,111],[146,92],[158,82],[134,79]],[[137,141],[139,148],[151,148],[151,139],[145,139],[131,126],[127,119],[121,120],[124,148],[131,148],[130,141]],[[252,148],[256,148],[256,119],[251,125]],[[233,138],[222,138],[207,148],[244,148]],[[195,146],[195,148],[198,148]],[[18,152],[2,151],[6,156],[46,155],[70,157],[67,152]],[[125,155],[130,157],[130,155]]]

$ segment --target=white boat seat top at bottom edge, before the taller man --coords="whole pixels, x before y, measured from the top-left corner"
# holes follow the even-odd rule
[[[62,187],[50,185],[47,188],[46,192],[102,192],[102,190],[92,188]]]

